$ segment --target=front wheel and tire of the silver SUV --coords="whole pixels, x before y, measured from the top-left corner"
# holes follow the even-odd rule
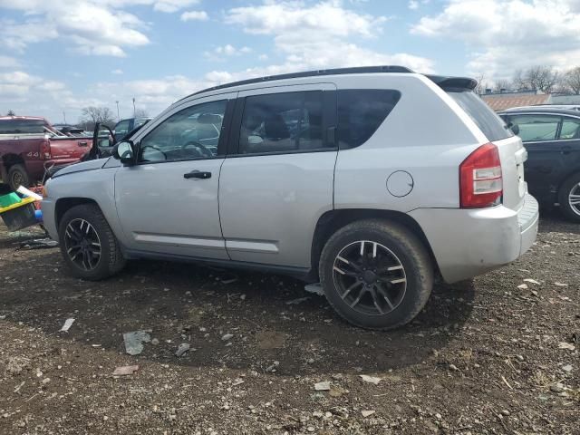
[[[117,274],[125,266],[119,242],[101,209],[94,204],[82,204],[66,211],[58,234],[64,262],[71,275],[77,278],[98,281]],[[86,240],[84,243],[79,241],[79,234]],[[97,243],[99,247],[95,245]],[[83,247],[77,248],[77,245],[91,250],[92,254],[84,256]],[[99,255],[95,259],[97,252]]]

